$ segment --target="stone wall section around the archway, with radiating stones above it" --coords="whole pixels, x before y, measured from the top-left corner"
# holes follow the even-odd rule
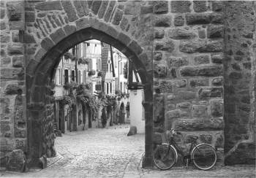
[[[39,125],[45,116],[31,115],[37,111],[37,105],[47,104],[46,90],[48,78],[54,74],[59,56],[74,44],[89,39],[98,39],[112,44],[135,63],[138,73],[146,84],[146,165],[151,166],[151,129],[152,129],[152,29],[151,2],[148,1],[26,1],[26,96],[29,108],[29,120]],[[149,60],[150,59],[150,60]],[[50,106],[49,106],[50,108]],[[48,113],[43,107],[43,112]],[[50,118],[51,115],[46,116]],[[40,118],[40,119],[38,119]],[[46,123],[46,128],[50,123]],[[37,127],[35,127],[37,128]],[[31,137],[37,133],[34,127],[28,128]],[[51,142],[49,133],[43,129],[44,142]],[[38,137],[38,136],[37,136]],[[44,153],[39,144],[32,139],[29,148],[32,157],[40,158]],[[50,144],[51,145],[51,144]],[[51,147],[51,146],[50,146]],[[46,151],[50,149],[46,148]]]

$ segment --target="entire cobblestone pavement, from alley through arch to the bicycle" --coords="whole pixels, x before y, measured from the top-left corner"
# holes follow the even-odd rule
[[[1,171],[1,177],[255,177],[255,166],[141,169],[144,135],[127,136],[128,131],[129,125],[117,125],[64,134],[56,139],[58,153],[47,169]]]

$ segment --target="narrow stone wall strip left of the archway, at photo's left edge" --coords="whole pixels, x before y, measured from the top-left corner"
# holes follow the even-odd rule
[[[0,2],[0,38],[1,38],[1,165],[19,162],[12,157],[15,152],[26,152],[26,87],[24,69],[23,31],[24,2]],[[13,151],[13,152],[12,152]],[[12,152],[11,154],[7,154]],[[7,155],[7,158],[5,158]],[[22,161],[20,163],[22,163]],[[20,166],[9,166],[10,170],[20,170]]]

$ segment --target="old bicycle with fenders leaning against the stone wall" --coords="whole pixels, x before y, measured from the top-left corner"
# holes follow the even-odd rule
[[[189,155],[185,155],[173,139],[174,135],[181,133],[174,131],[172,128],[169,134],[169,143],[157,144],[157,148],[154,150],[154,165],[157,166],[158,169],[167,170],[172,168],[177,163],[178,153],[182,155],[183,160],[186,160],[187,167],[191,160],[197,169],[206,171],[214,167],[217,162],[217,152],[211,144],[195,144],[198,136],[192,136]]]

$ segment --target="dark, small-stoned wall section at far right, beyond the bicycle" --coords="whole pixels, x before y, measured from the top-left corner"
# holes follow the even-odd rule
[[[255,2],[225,3],[225,16],[225,163],[255,163]]]

